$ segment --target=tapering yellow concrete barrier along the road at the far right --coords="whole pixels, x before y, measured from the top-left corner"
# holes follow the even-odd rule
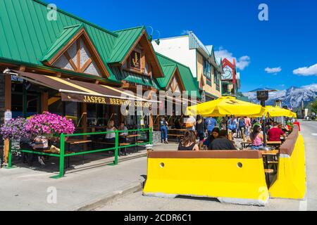
[[[269,188],[272,198],[305,198],[306,162],[304,139],[299,134],[298,127],[294,128],[291,135],[280,147],[277,180]]]

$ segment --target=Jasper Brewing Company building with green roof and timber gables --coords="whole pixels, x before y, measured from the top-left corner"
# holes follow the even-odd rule
[[[110,120],[140,129],[159,122],[144,112],[157,103],[149,99],[159,90],[186,90],[195,99],[194,91],[200,98],[189,68],[156,55],[145,27],[110,32],[59,9],[57,20],[48,20],[43,12],[50,11],[38,0],[0,3],[1,122],[49,111],[71,118],[77,133],[104,130]],[[174,70],[163,72],[170,63]],[[130,96],[122,97],[125,91]],[[123,115],[128,98],[147,110]]]

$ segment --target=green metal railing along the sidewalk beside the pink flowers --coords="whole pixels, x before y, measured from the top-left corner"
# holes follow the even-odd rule
[[[60,136],[60,154],[56,153],[44,153],[36,150],[23,150],[23,149],[12,149],[11,148],[11,141],[9,143],[9,148],[8,148],[8,169],[12,168],[12,151],[18,151],[21,153],[32,153],[36,155],[46,155],[46,156],[51,156],[51,157],[56,157],[59,158],[59,174],[57,176],[51,176],[51,178],[58,179],[64,176],[64,162],[65,158],[75,156],[75,155],[86,155],[86,154],[91,154],[91,153],[100,153],[100,152],[105,152],[105,151],[111,151],[114,150],[114,161],[113,165],[118,165],[118,152],[121,148],[130,148],[130,147],[136,147],[136,146],[144,146],[147,144],[152,144],[153,143],[153,130],[150,129],[132,129],[128,130],[128,133],[130,132],[140,132],[140,131],[148,131],[149,132],[149,141],[148,142],[142,142],[142,143],[131,143],[129,145],[125,146],[120,146],[119,144],[119,134],[124,133],[127,131],[107,131],[107,132],[94,132],[94,133],[85,133],[85,134],[61,134]],[[94,135],[106,135],[106,134],[116,134],[116,140],[113,143],[114,147],[113,148],[101,148],[97,150],[85,150],[80,153],[66,153],[65,151],[65,143],[66,143],[66,137],[74,137],[74,136],[94,136]],[[98,143],[98,142],[97,142]]]

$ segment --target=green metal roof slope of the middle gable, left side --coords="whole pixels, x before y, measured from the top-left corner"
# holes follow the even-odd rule
[[[135,44],[135,41],[137,41],[144,30],[145,27],[135,27],[116,31],[115,33],[118,34],[118,38],[116,44],[113,46],[111,58],[108,63],[122,63],[133,44]]]

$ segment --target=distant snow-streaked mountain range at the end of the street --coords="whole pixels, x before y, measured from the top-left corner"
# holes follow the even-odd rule
[[[256,93],[247,92],[243,95],[247,96],[249,101],[259,103],[259,101],[256,99]],[[302,101],[304,101],[304,103],[309,103],[316,99],[317,84],[311,84],[302,87],[291,86],[286,90],[270,92],[268,96],[268,101],[266,101],[267,105],[274,105],[276,100],[282,100],[282,105],[295,108],[299,107]]]

